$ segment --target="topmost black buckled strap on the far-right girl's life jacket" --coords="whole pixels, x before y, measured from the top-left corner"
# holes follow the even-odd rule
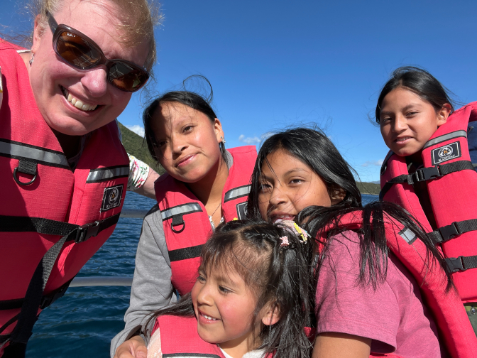
[[[388,181],[383,186],[379,193],[379,200],[383,201],[384,195],[390,190],[390,188],[397,183],[407,183],[412,185],[417,182],[422,182],[424,180],[432,180],[435,178],[440,178],[444,175],[458,172],[461,170],[475,170],[473,168],[471,161],[456,161],[454,163],[440,164],[437,166],[429,168],[420,168],[417,169],[412,174],[402,174]]]

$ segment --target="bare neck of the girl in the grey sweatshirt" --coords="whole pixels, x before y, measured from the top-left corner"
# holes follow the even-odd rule
[[[229,168],[224,159],[220,158],[204,178],[195,183],[187,183],[187,186],[202,204],[216,205],[222,200],[222,192],[228,177]]]

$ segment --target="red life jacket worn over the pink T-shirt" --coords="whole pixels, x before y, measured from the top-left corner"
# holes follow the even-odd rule
[[[444,270],[437,264],[432,268],[425,265],[426,246],[410,229],[392,217],[384,217],[384,223],[388,247],[416,279],[451,357],[477,357],[477,337],[458,293],[454,289],[446,292]],[[361,229],[362,212],[344,215],[339,227]]]

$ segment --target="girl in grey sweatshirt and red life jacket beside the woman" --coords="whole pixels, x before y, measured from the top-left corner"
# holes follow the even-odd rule
[[[176,290],[180,295],[192,290],[200,250],[214,227],[244,217],[256,159],[255,146],[225,149],[221,122],[193,92],[155,99],[143,120],[150,154],[167,173],[155,182],[158,207],[143,223],[126,327],[111,342],[111,357],[146,354],[137,335],[143,319],[175,301]]]

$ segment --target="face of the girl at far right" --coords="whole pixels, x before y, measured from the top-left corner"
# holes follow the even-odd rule
[[[449,105],[448,105],[449,106]],[[425,143],[446,123],[450,106],[440,111],[402,87],[386,94],[381,104],[380,129],[386,146],[398,156],[420,153]]]

